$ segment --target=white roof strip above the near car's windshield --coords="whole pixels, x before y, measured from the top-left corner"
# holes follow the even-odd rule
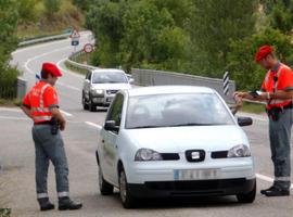
[[[151,94],[175,94],[175,93],[215,93],[215,90],[199,86],[152,86],[132,88],[125,90],[129,97],[151,95]]]

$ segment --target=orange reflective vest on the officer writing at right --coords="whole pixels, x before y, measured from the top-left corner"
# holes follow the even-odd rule
[[[291,76],[281,76],[281,74],[292,74]],[[277,92],[278,90],[284,90],[285,87],[283,87],[284,82],[288,82],[290,79],[291,84],[293,82],[293,72],[292,69],[284,65],[280,64],[278,72],[271,72],[269,71],[266,75],[266,78],[263,82],[262,89],[265,90],[266,92]],[[292,103],[292,100],[279,100],[279,99],[272,99],[272,100],[267,100],[267,110],[270,110],[272,107],[282,107],[285,105],[289,105]]]

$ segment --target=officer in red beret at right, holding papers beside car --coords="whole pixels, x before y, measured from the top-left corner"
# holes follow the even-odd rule
[[[293,73],[289,66],[278,61],[271,46],[260,47],[255,55],[255,61],[268,71],[262,92],[235,92],[234,95],[240,99],[266,102],[275,181],[270,188],[262,190],[260,193],[266,196],[286,196],[290,195],[291,187],[290,139],[293,123]]]

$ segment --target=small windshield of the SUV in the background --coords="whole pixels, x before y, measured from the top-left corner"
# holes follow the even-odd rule
[[[107,82],[127,84],[128,79],[123,73],[115,73],[115,72],[93,73],[92,84],[107,84]]]

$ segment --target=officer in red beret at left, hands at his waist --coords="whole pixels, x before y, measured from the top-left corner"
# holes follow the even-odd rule
[[[33,139],[36,150],[37,200],[41,210],[53,209],[47,190],[49,161],[55,168],[59,209],[79,209],[81,203],[69,199],[68,165],[60,130],[65,129],[65,119],[59,110],[54,85],[62,73],[52,63],[43,63],[41,80],[25,95],[22,110],[34,120]]]

